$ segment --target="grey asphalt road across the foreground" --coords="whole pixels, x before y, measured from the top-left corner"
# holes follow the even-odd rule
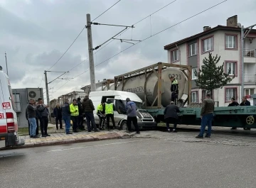
[[[253,187],[254,147],[154,138],[0,151],[0,187]]]

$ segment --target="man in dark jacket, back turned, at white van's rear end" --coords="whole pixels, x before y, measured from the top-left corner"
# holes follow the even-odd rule
[[[100,131],[97,129],[95,124],[95,118],[93,114],[94,110],[95,110],[95,107],[92,104],[92,100],[89,99],[89,96],[85,96],[85,99],[83,99],[82,101],[82,111],[85,112],[88,132],[91,132],[91,129],[92,129],[90,126],[90,123],[92,123],[92,127],[95,132]]]

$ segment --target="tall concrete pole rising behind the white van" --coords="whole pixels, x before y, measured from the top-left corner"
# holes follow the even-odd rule
[[[90,13],[86,14],[87,18],[87,41],[88,41],[88,52],[89,52],[89,63],[90,63],[90,83],[91,83],[91,92],[96,91],[95,84],[95,69],[94,69],[94,60],[93,60],[93,50],[92,50],[92,26]]]

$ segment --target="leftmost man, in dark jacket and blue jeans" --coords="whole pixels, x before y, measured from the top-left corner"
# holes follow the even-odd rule
[[[28,121],[30,124],[30,137],[31,138],[39,138],[36,136],[36,101],[34,99],[30,99],[28,106],[26,108],[28,114]]]

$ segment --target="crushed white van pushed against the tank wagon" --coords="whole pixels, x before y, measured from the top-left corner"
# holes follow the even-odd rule
[[[131,101],[134,101],[134,103],[137,105],[137,119],[139,127],[156,127],[154,118],[146,110],[141,109],[142,99],[140,99],[137,94],[115,90],[90,92],[89,99],[92,100],[92,103],[95,106],[95,111],[93,111],[95,116],[95,123],[97,125],[100,123],[100,118],[97,116],[97,106],[101,103],[101,101],[112,101],[114,104],[114,121],[116,126],[119,126],[119,128],[122,130],[127,130],[127,114],[124,110],[122,110],[125,109],[127,98],[131,99]],[[110,126],[112,126],[111,120]]]

